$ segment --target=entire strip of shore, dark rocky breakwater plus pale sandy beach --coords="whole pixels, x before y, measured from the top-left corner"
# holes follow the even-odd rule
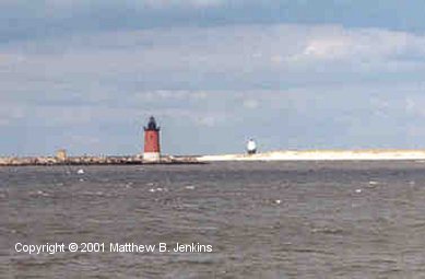
[[[210,162],[260,162],[260,161],[425,161],[425,149],[417,150],[283,150],[257,154],[215,155],[163,155],[160,162],[144,161],[141,155],[127,156],[3,156],[0,166],[31,165],[161,165],[208,164]]]

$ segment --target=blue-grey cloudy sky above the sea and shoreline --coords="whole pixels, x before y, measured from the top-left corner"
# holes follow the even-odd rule
[[[0,155],[425,148],[425,1],[0,0]]]

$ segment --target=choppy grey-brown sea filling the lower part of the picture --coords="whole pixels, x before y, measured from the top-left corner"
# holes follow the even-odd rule
[[[425,278],[425,162],[1,167],[0,278]]]

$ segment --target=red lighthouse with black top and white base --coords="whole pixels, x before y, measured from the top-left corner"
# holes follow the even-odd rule
[[[144,128],[144,152],[143,161],[160,162],[160,127],[156,125],[155,118],[151,116],[149,123]]]

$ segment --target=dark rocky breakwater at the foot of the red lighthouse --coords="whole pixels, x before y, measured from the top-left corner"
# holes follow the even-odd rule
[[[25,165],[126,165],[126,164],[202,164],[192,156],[162,156],[158,162],[144,161],[142,156],[3,156],[0,166]]]

